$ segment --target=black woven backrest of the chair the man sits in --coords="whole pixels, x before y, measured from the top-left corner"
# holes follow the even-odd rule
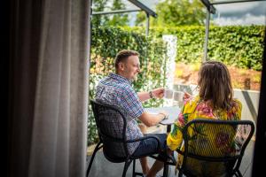
[[[124,161],[129,157],[126,142],[127,119],[116,106],[102,104],[95,100],[90,100],[90,104],[106,158],[112,162]]]

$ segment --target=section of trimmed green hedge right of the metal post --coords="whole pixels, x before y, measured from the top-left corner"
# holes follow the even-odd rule
[[[240,68],[262,70],[265,27],[211,27],[208,57]]]

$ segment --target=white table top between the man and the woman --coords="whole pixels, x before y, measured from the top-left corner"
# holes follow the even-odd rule
[[[145,111],[149,113],[159,113],[161,111],[168,112],[169,114],[168,119],[163,119],[162,121],[160,121],[160,124],[171,125],[175,123],[176,119],[178,118],[178,114],[181,112],[181,109],[177,106],[174,106],[174,107],[145,108]]]

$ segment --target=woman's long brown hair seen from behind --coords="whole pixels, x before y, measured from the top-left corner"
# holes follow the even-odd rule
[[[232,86],[230,73],[226,65],[219,61],[207,61],[202,64],[198,85],[202,100],[209,101],[214,109],[230,109]]]

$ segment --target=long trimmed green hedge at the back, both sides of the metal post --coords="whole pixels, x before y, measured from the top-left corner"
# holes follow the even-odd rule
[[[124,29],[145,32],[142,27]],[[210,27],[208,58],[261,71],[264,30],[265,26]],[[176,35],[176,61],[198,63],[203,58],[205,27],[152,27],[150,35],[158,38],[162,35]]]

